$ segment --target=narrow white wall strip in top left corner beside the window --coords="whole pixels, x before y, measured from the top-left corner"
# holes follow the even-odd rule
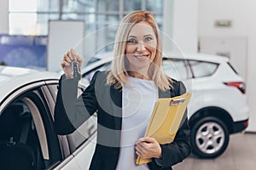
[[[0,34],[9,33],[9,0],[0,1]]]

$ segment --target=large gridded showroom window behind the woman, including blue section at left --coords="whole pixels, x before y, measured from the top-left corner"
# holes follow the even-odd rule
[[[97,54],[111,51],[119,21],[133,10],[151,11],[162,31],[163,3],[164,0],[9,0],[9,35],[0,35],[0,65],[47,70],[49,20],[83,20],[84,36],[92,40],[86,48]]]

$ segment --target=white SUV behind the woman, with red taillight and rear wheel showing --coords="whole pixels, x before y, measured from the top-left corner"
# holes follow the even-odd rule
[[[112,53],[91,58],[81,69],[84,82],[95,71],[108,70]],[[229,59],[209,54],[165,53],[166,74],[182,80],[192,93],[188,111],[191,144],[196,156],[220,156],[229,144],[231,133],[242,132],[248,125],[249,109],[243,79]]]

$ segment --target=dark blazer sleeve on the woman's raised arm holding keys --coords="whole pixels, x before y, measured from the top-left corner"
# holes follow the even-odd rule
[[[97,109],[95,82],[96,76],[84,93],[78,96],[78,81],[61,76],[55,102],[55,132],[61,135],[73,133]]]

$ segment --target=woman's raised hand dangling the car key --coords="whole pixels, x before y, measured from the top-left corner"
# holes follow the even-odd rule
[[[67,51],[67,54],[64,54],[63,59],[61,61],[61,68],[66,74],[67,78],[73,78],[73,71],[72,71],[72,62],[78,61],[79,67],[82,67],[83,59],[75,53],[74,49],[71,48]]]

